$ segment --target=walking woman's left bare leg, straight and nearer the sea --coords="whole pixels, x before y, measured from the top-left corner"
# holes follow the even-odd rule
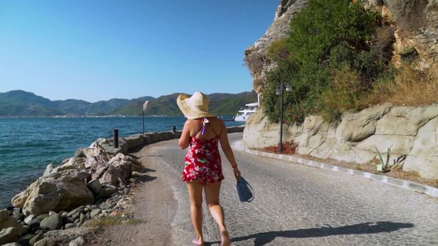
[[[196,232],[196,241],[194,240],[193,243],[203,245],[203,184],[195,180],[188,183],[188,189],[192,224]]]

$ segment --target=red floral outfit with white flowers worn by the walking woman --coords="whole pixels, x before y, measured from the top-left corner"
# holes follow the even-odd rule
[[[190,148],[185,155],[183,181],[201,180],[205,185],[224,179],[218,140],[218,136],[211,139],[190,138]]]

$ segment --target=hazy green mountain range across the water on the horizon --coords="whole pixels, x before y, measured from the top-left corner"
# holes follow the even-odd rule
[[[146,115],[179,116],[176,103],[179,93],[160,96],[142,96],[134,99],[113,98],[99,102],[68,99],[51,101],[31,92],[14,90],[0,93],[0,115],[31,116],[31,115],[142,115],[145,100],[151,101]],[[208,95],[210,109],[218,115],[234,115],[240,107],[249,102],[257,102],[255,92],[239,94],[214,93]]]

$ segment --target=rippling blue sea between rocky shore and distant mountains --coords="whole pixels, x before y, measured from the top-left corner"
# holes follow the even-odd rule
[[[224,118],[231,118],[231,116]],[[0,117],[0,208],[44,174],[50,163],[60,165],[79,148],[99,137],[119,137],[183,128],[183,117],[2,118]],[[242,122],[225,121],[227,126]]]

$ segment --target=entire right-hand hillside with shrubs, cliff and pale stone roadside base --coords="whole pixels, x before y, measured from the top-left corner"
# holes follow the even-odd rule
[[[404,156],[402,169],[376,173],[400,170],[398,178],[436,184],[437,27],[437,1],[280,1],[268,31],[245,51],[263,97],[243,145],[279,146],[272,136],[283,115],[281,141],[305,159],[376,170]],[[292,87],[283,102],[281,85]]]

